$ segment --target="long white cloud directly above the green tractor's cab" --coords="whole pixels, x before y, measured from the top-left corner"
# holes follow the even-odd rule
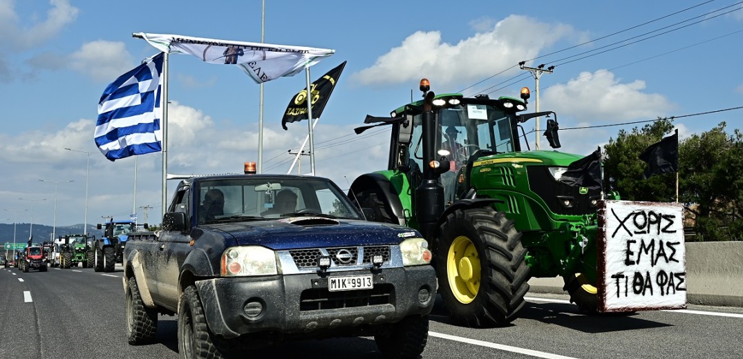
[[[536,57],[540,50],[572,33],[569,25],[547,24],[518,15],[508,16],[489,30],[457,44],[441,42],[438,31],[418,31],[353,76],[366,85],[417,81],[421,77],[441,85],[470,82]]]

